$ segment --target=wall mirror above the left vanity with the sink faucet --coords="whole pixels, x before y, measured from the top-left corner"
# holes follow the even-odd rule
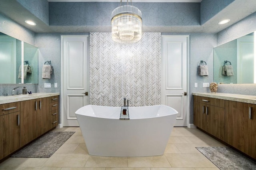
[[[38,48],[0,33],[0,84],[38,84]]]

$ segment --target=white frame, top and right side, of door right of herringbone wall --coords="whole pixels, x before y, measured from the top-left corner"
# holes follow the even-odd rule
[[[192,128],[194,127],[194,124],[190,124],[190,36],[189,35],[162,35],[162,37],[186,37],[187,38],[187,114],[186,114],[186,120],[187,120],[187,127]],[[161,40],[162,41],[162,40]]]

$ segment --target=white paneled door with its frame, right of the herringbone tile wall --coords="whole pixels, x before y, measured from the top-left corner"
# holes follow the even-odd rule
[[[188,126],[188,47],[189,36],[162,36],[161,101],[178,111],[176,127]]]

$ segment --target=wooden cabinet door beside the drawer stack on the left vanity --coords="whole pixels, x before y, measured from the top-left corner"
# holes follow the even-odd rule
[[[37,99],[37,105],[37,136],[40,136],[49,130],[48,98]]]

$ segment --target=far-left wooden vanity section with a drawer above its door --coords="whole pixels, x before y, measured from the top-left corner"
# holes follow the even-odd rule
[[[20,103],[0,105],[0,160],[20,148]]]

